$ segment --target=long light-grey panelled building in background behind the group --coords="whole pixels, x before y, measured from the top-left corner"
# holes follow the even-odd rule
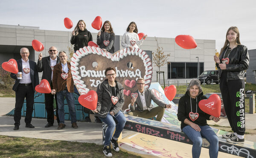
[[[90,30],[89,30],[90,31]],[[96,33],[92,33],[93,42],[96,42]],[[20,25],[0,25],[0,64],[9,59],[20,59],[20,48],[29,48],[29,59],[37,62],[39,52],[32,48],[32,40],[39,40],[44,44],[43,56],[48,56],[48,48],[55,46],[58,51],[68,52],[70,44],[71,31],[51,31],[40,30],[39,27],[20,26]],[[122,49],[122,36],[115,37],[115,51]],[[175,43],[175,38],[157,37],[160,47],[163,47],[164,54],[170,54],[166,65],[160,68],[164,71],[165,82],[168,84],[179,84],[189,82],[190,79],[196,78],[198,75],[198,62],[200,74],[206,70],[214,70],[215,62],[215,40],[198,40],[195,39],[198,47],[195,49],[183,49]],[[146,51],[152,59],[152,52],[157,50],[157,42],[154,37],[147,37],[140,46]],[[197,58],[198,57],[198,58]],[[153,63],[153,79],[157,80],[158,68]],[[41,78],[41,77],[40,77]],[[163,84],[163,74],[160,76],[161,84]]]

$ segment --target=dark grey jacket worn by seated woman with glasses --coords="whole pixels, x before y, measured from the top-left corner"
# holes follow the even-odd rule
[[[111,95],[110,87],[108,86],[107,79],[98,85],[96,92],[98,95],[98,102],[97,102],[96,109],[99,111],[100,114],[95,113],[94,116],[105,118],[112,106],[112,102],[111,102],[112,95]],[[114,108],[111,110],[115,114],[118,113],[119,110],[122,111],[122,106],[125,102],[123,86],[119,82],[116,82],[116,96],[118,97],[118,102],[114,105]],[[104,114],[104,115],[101,115],[101,114]]]

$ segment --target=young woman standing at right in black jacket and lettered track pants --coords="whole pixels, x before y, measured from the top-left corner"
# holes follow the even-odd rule
[[[249,54],[239,37],[238,28],[230,27],[219,57],[214,56],[224,109],[234,132],[222,137],[231,143],[244,143],[245,132],[244,71],[249,66]]]

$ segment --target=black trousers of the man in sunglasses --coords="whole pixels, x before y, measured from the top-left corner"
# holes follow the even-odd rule
[[[52,89],[52,82],[50,83],[51,89]],[[49,124],[54,123],[54,109],[53,109],[53,99],[55,96],[55,103],[56,103],[56,116],[57,116],[57,122],[59,123],[60,120],[58,118],[58,103],[57,103],[57,96],[52,95],[51,93],[45,93],[44,99],[45,99],[45,110],[47,112],[47,122]]]

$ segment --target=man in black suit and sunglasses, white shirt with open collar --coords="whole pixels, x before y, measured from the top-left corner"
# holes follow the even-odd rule
[[[42,79],[46,79],[52,89],[52,72],[53,67],[60,62],[59,57],[57,56],[57,48],[52,46],[49,48],[49,56],[42,58],[42,53],[38,55],[38,63],[37,63],[37,70],[38,72],[43,71]],[[55,103],[56,103],[56,116],[57,122],[59,123],[60,120],[58,118],[58,104],[57,104],[57,96],[52,95],[51,93],[45,93],[45,110],[47,111],[47,124],[45,127],[51,127],[54,123],[54,110],[53,110],[53,99],[55,96]]]

